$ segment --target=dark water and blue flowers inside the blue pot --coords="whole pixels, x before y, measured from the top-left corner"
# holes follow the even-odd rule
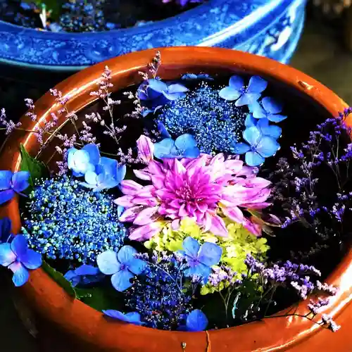
[[[100,32],[142,26],[205,0],[1,0],[0,19],[51,32]]]

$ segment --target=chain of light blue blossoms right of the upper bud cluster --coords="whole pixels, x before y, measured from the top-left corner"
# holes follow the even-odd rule
[[[222,88],[219,95],[225,101],[236,101],[235,106],[249,107],[246,118],[246,129],[243,132],[244,142],[234,143],[232,151],[246,154],[246,164],[261,165],[265,158],[275,155],[279,149],[277,139],[281,136],[281,128],[270,125],[269,122],[281,122],[287,116],[281,115],[282,106],[274,99],[265,96],[258,101],[268,82],[258,76],[249,80],[248,86],[242,77],[230,77],[229,86]]]

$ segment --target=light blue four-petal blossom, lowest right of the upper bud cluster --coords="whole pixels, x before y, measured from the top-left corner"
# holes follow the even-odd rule
[[[279,149],[277,141],[260,132],[257,126],[248,127],[243,132],[244,140],[247,143],[234,145],[234,153],[246,153],[245,160],[249,166],[258,166],[264,163],[265,158],[273,156]]]

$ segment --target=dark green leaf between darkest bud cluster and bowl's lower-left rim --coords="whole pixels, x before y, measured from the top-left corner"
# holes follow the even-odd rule
[[[111,287],[93,287],[89,289],[75,289],[77,298],[96,310],[122,310],[123,297]]]

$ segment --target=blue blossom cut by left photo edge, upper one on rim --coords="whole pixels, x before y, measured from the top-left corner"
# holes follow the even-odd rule
[[[21,194],[30,185],[28,180],[30,172],[19,171],[13,173],[8,170],[0,170],[0,204],[6,203],[15,196]]]

